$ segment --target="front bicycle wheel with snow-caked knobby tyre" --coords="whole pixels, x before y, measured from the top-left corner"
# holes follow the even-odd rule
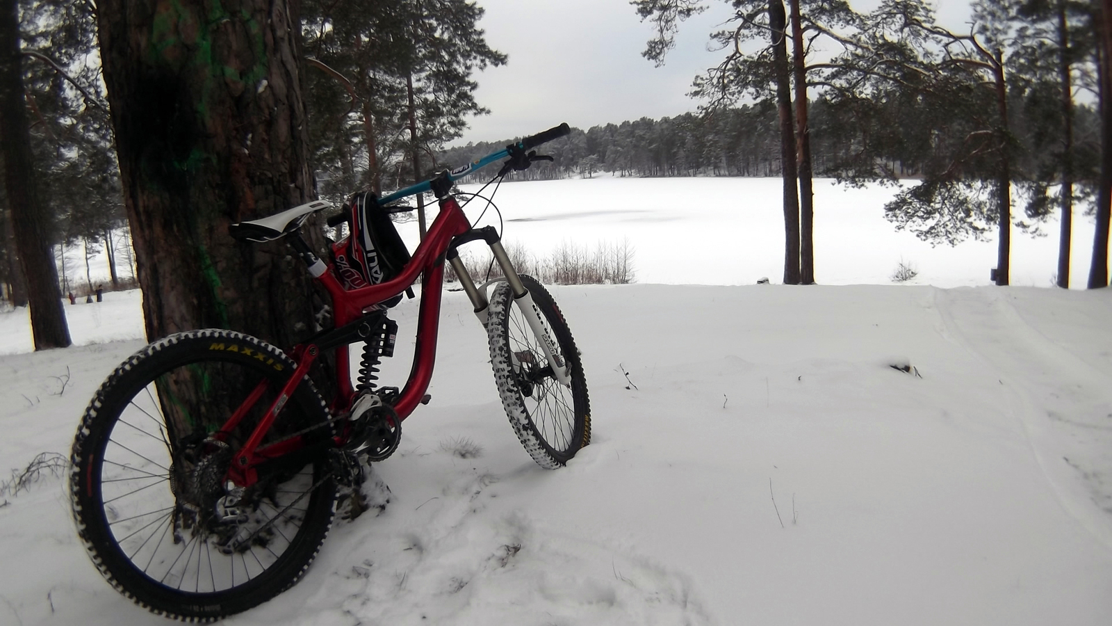
[[[590,402],[579,351],[552,294],[530,276],[522,283],[570,369],[572,384],[553,375],[542,340],[514,303],[508,283],[490,296],[487,340],[503,408],[517,439],[540,467],[555,469],[590,443]]]

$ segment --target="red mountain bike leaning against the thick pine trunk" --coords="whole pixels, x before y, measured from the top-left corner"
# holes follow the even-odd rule
[[[331,526],[337,492],[357,495],[361,461],[389,457],[401,422],[428,401],[445,260],[486,326],[498,393],[525,449],[556,468],[586,446],[587,385],[563,313],[517,274],[495,228],[473,228],[451,193],[454,180],[495,162],[506,159],[492,182],[548,158],[527,150],[568,131],[564,124],[381,199],[359,196],[340,216],[351,222],[353,242],[384,205],[425,192],[439,200],[425,241],[378,284],[384,267],[373,265],[386,251],[363,250],[366,265],[351,274],[355,260],[337,253],[326,264],[301,237],[306,219],[328,203],[234,225],[237,238],[294,247],[330,295],[332,327],[289,353],[235,331],[178,333],[108,376],[73,442],[70,495],[80,538],[109,583],[155,613],[188,620],[246,610],[297,583]],[[457,248],[480,239],[505,277],[476,285]],[[409,380],[400,390],[378,387],[397,332],[387,310],[418,276]],[[365,346],[353,384],[348,345],[357,342]],[[322,398],[307,374],[329,351],[335,392]]]

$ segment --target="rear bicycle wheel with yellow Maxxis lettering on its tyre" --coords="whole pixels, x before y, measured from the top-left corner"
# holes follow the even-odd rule
[[[301,578],[334,515],[325,454],[272,463],[246,490],[226,483],[232,452],[292,371],[276,348],[210,330],[155,342],[105,381],[73,442],[70,496],[89,556],[120,593],[168,617],[211,620]],[[330,436],[306,380],[262,446],[310,426],[302,440]]]

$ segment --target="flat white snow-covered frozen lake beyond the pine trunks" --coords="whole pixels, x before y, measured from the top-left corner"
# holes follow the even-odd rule
[[[479,185],[465,185],[477,192]],[[493,189],[494,187],[489,187]],[[932,247],[884,219],[892,187],[847,188],[815,180],[815,280],[821,284],[890,284],[903,261],[919,276],[913,284],[942,287],[987,285],[996,266],[996,243],[966,241]],[[545,256],[563,242],[594,248],[596,242],[628,238],[636,250],[639,283],[754,284],[784,274],[784,214],[780,178],[613,178],[503,184],[507,242],[522,242]],[[476,203],[478,205],[479,203]],[[474,206],[474,205],[473,205]],[[468,211],[475,218],[481,207]],[[1015,209],[1019,211],[1019,209]],[[483,224],[498,225],[488,212]],[[1032,238],[1012,228],[1013,285],[1052,286],[1058,268],[1058,222],[1050,236]],[[417,242],[416,226],[405,233]],[[1072,283],[1084,286],[1092,254],[1093,222],[1074,216]]]

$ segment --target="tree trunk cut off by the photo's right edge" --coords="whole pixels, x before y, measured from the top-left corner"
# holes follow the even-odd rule
[[[1112,212],[1112,0],[1101,2],[1098,72],[1101,110],[1101,178],[1096,189],[1096,228],[1093,232],[1093,260],[1089,266],[1089,288],[1109,284],[1109,223]]]

